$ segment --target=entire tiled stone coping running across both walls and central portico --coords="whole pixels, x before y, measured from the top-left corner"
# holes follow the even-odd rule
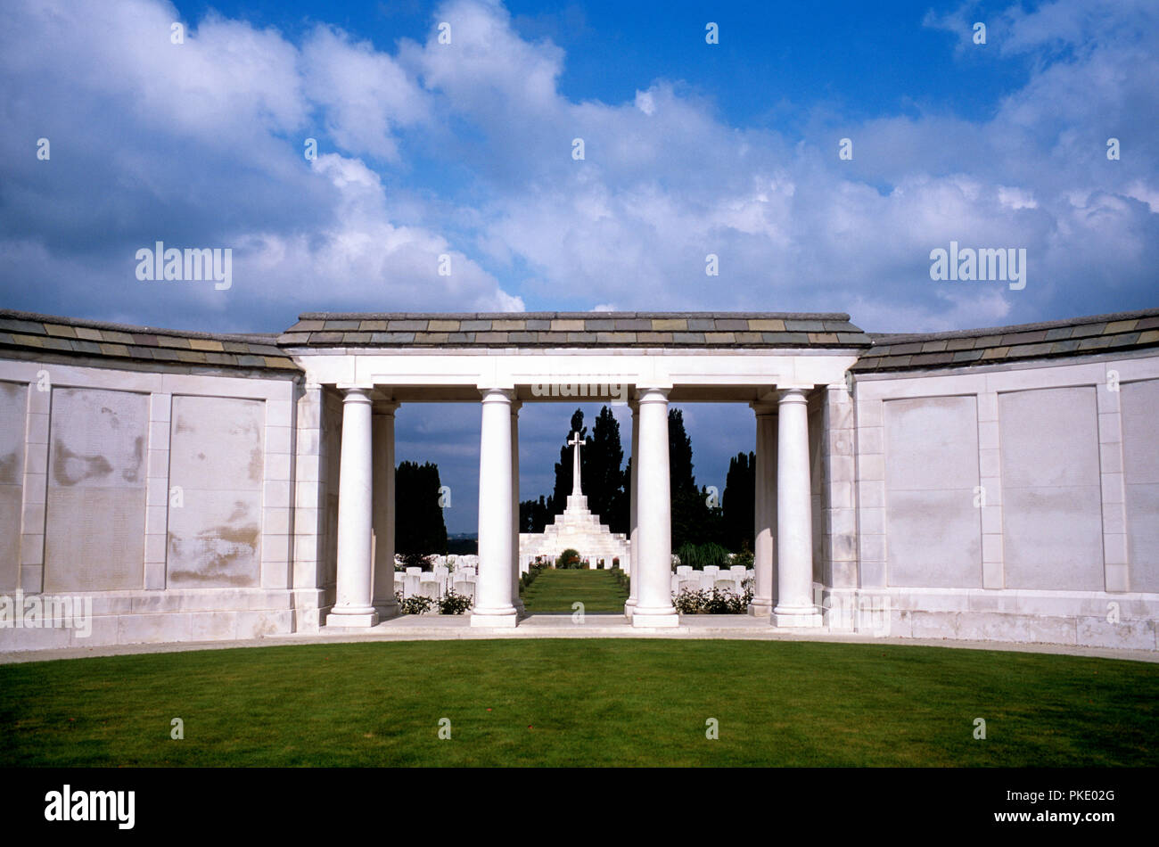
[[[858,373],[1159,346],[1159,308],[948,333],[867,334],[845,313],[307,312],[280,335],[199,333],[0,309],[0,352],[299,373],[309,348],[853,349]],[[119,366],[125,366],[122,364]]]

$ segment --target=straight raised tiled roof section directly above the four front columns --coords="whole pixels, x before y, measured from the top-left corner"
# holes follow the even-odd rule
[[[306,312],[284,346],[855,348],[840,312]]]

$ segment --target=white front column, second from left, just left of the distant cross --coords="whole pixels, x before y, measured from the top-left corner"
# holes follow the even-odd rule
[[[479,577],[473,627],[513,627],[511,603],[511,399],[515,392],[483,392],[479,445]]]

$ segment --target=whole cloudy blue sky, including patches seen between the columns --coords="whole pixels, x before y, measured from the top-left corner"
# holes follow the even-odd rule
[[[2,304],[220,331],[326,309],[839,311],[912,331],[1154,306],[1157,48],[1152,0],[14,0]],[[233,286],[137,280],[158,240],[229,247]],[[1026,287],[931,280],[952,240],[1025,248]],[[568,414],[551,408],[526,429],[544,461]],[[433,409],[400,412],[400,439],[466,489],[460,411],[453,450]],[[702,482],[751,446],[749,415],[693,416]]]

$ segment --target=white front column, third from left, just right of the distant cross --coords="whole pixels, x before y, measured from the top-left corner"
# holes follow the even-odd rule
[[[675,627],[680,622],[672,606],[672,498],[668,462],[668,388],[644,388],[640,394],[640,497],[636,517],[639,576],[634,627]]]

